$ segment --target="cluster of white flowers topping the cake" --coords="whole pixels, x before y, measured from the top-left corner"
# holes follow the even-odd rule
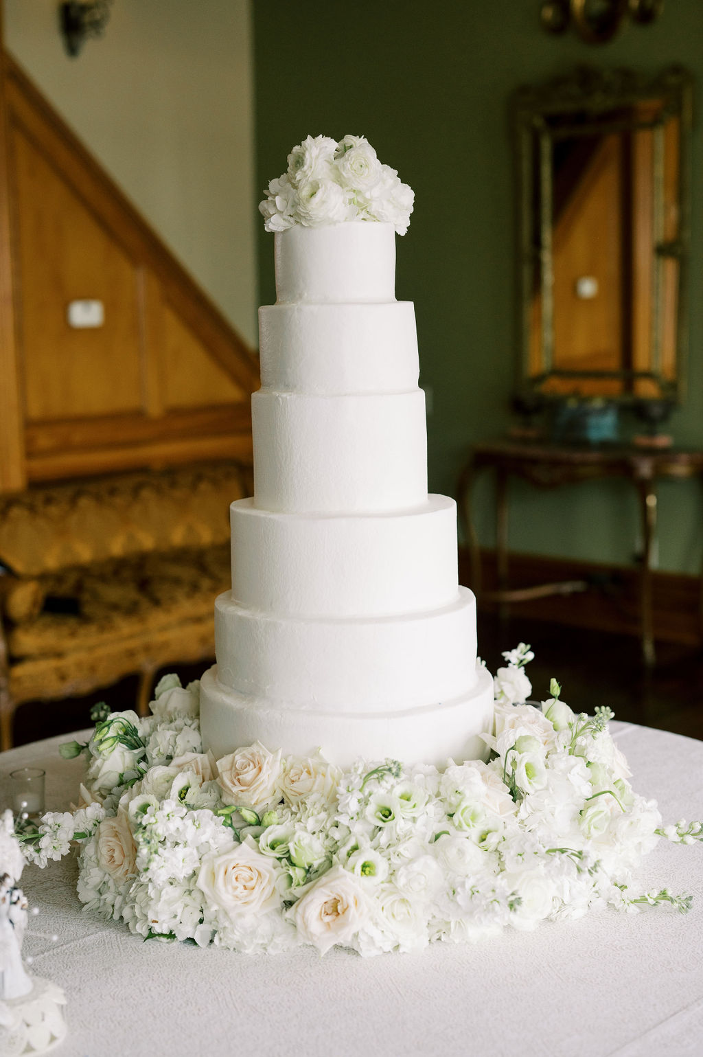
[[[267,231],[294,224],[323,227],[348,220],[382,221],[405,235],[413,191],[395,169],[382,165],[364,136],[308,136],[288,156],[288,169],[272,180],[259,205]]]

